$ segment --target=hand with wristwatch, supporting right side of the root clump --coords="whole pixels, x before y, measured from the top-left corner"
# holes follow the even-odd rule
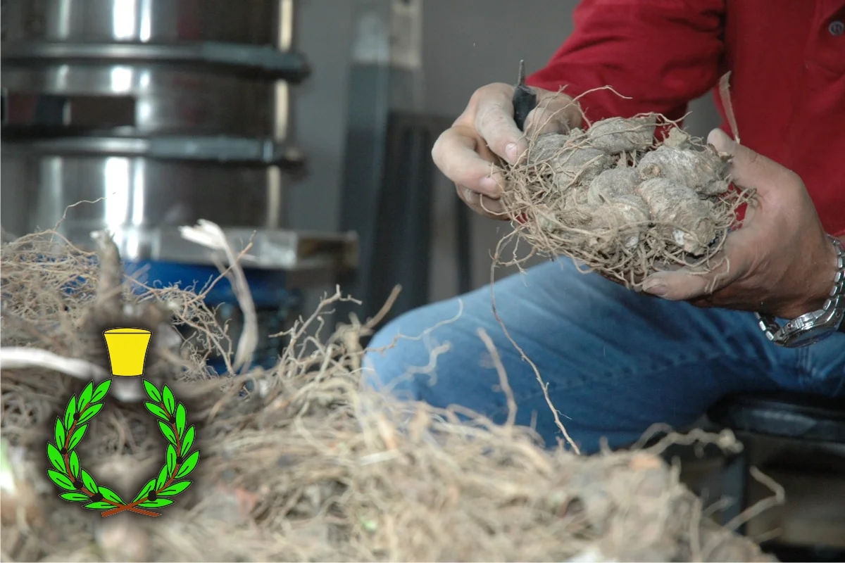
[[[757,191],[742,228],[728,235],[710,273],[690,268],[653,273],[643,290],[695,306],[769,313],[792,319],[820,309],[833,287],[836,252],[804,182],[793,171],[735,143],[721,129],[707,142],[733,155],[733,183]]]

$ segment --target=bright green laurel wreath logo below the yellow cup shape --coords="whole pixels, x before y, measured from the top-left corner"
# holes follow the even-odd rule
[[[150,479],[132,502],[124,502],[115,491],[97,485],[94,478],[83,469],[75,452],[85,436],[90,421],[103,408],[111,380],[94,387],[90,382],[85,389],[68,401],[64,416],[56,419],[55,443],[47,443],[47,457],[52,469],[47,469],[50,480],[64,492],[65,501],[79,502],[90,510],[102,511],[102,517],[114,516],[120,512],[137,512],[144,516],[161,516],[150,508],[161,508],[173,504],[174,497],[188,489],[192,481],[188,477],[199,462],[199,450],[191,453],[196,432],[194,426],[187,426],[188,413],[183,403],[177,403],[173,392],[166,385],[161,389],[144,380],[144,390],[150,401],[144,406],[155,414],[161,434],[165,437],[167,449],[165,464],[159,474]]]

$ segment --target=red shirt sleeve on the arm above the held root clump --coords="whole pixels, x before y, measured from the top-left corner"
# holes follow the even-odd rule
[[[657,112],[684,115],[717,84],[725,0],[582,0],[575,32],[528,84],[581,98],[589,121]]]

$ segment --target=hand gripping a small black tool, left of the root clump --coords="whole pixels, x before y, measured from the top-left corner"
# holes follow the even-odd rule
[[[525,134],[514,122],[514,87],[496,83],[477,89],[466,110],[434,143],[434,164],[455,182],[458,197],[485,217],[510,219],[499,202],[499,164],[504,160],[515,165],[520,160],[528,149],[526,136],[566,133],[581,125],[581,110],[570,96],[534,91],[537,107],[526,118]]]

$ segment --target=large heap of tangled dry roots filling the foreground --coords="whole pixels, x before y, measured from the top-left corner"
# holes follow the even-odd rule
[[[275,369],[210,378],[192,343],[232,356],[213,311],[190,291],[127,290],[108,248],[97,257],[49,233],[3,246],[3,350],[74,360],[3,362],[4,561],[767,560],[712,523],[655,452],[548,451],[529,429],[363,389],[358,338],[375,320],[313,330],[341,295],[297,323]],[[145,376],[199,429],[194,485],[161,517],[104,518],[46,479],[56,417],[108,366],[109,325],[154,327]],[[124,398],[106,401],[78,451],[132,498],[166,443]]]

